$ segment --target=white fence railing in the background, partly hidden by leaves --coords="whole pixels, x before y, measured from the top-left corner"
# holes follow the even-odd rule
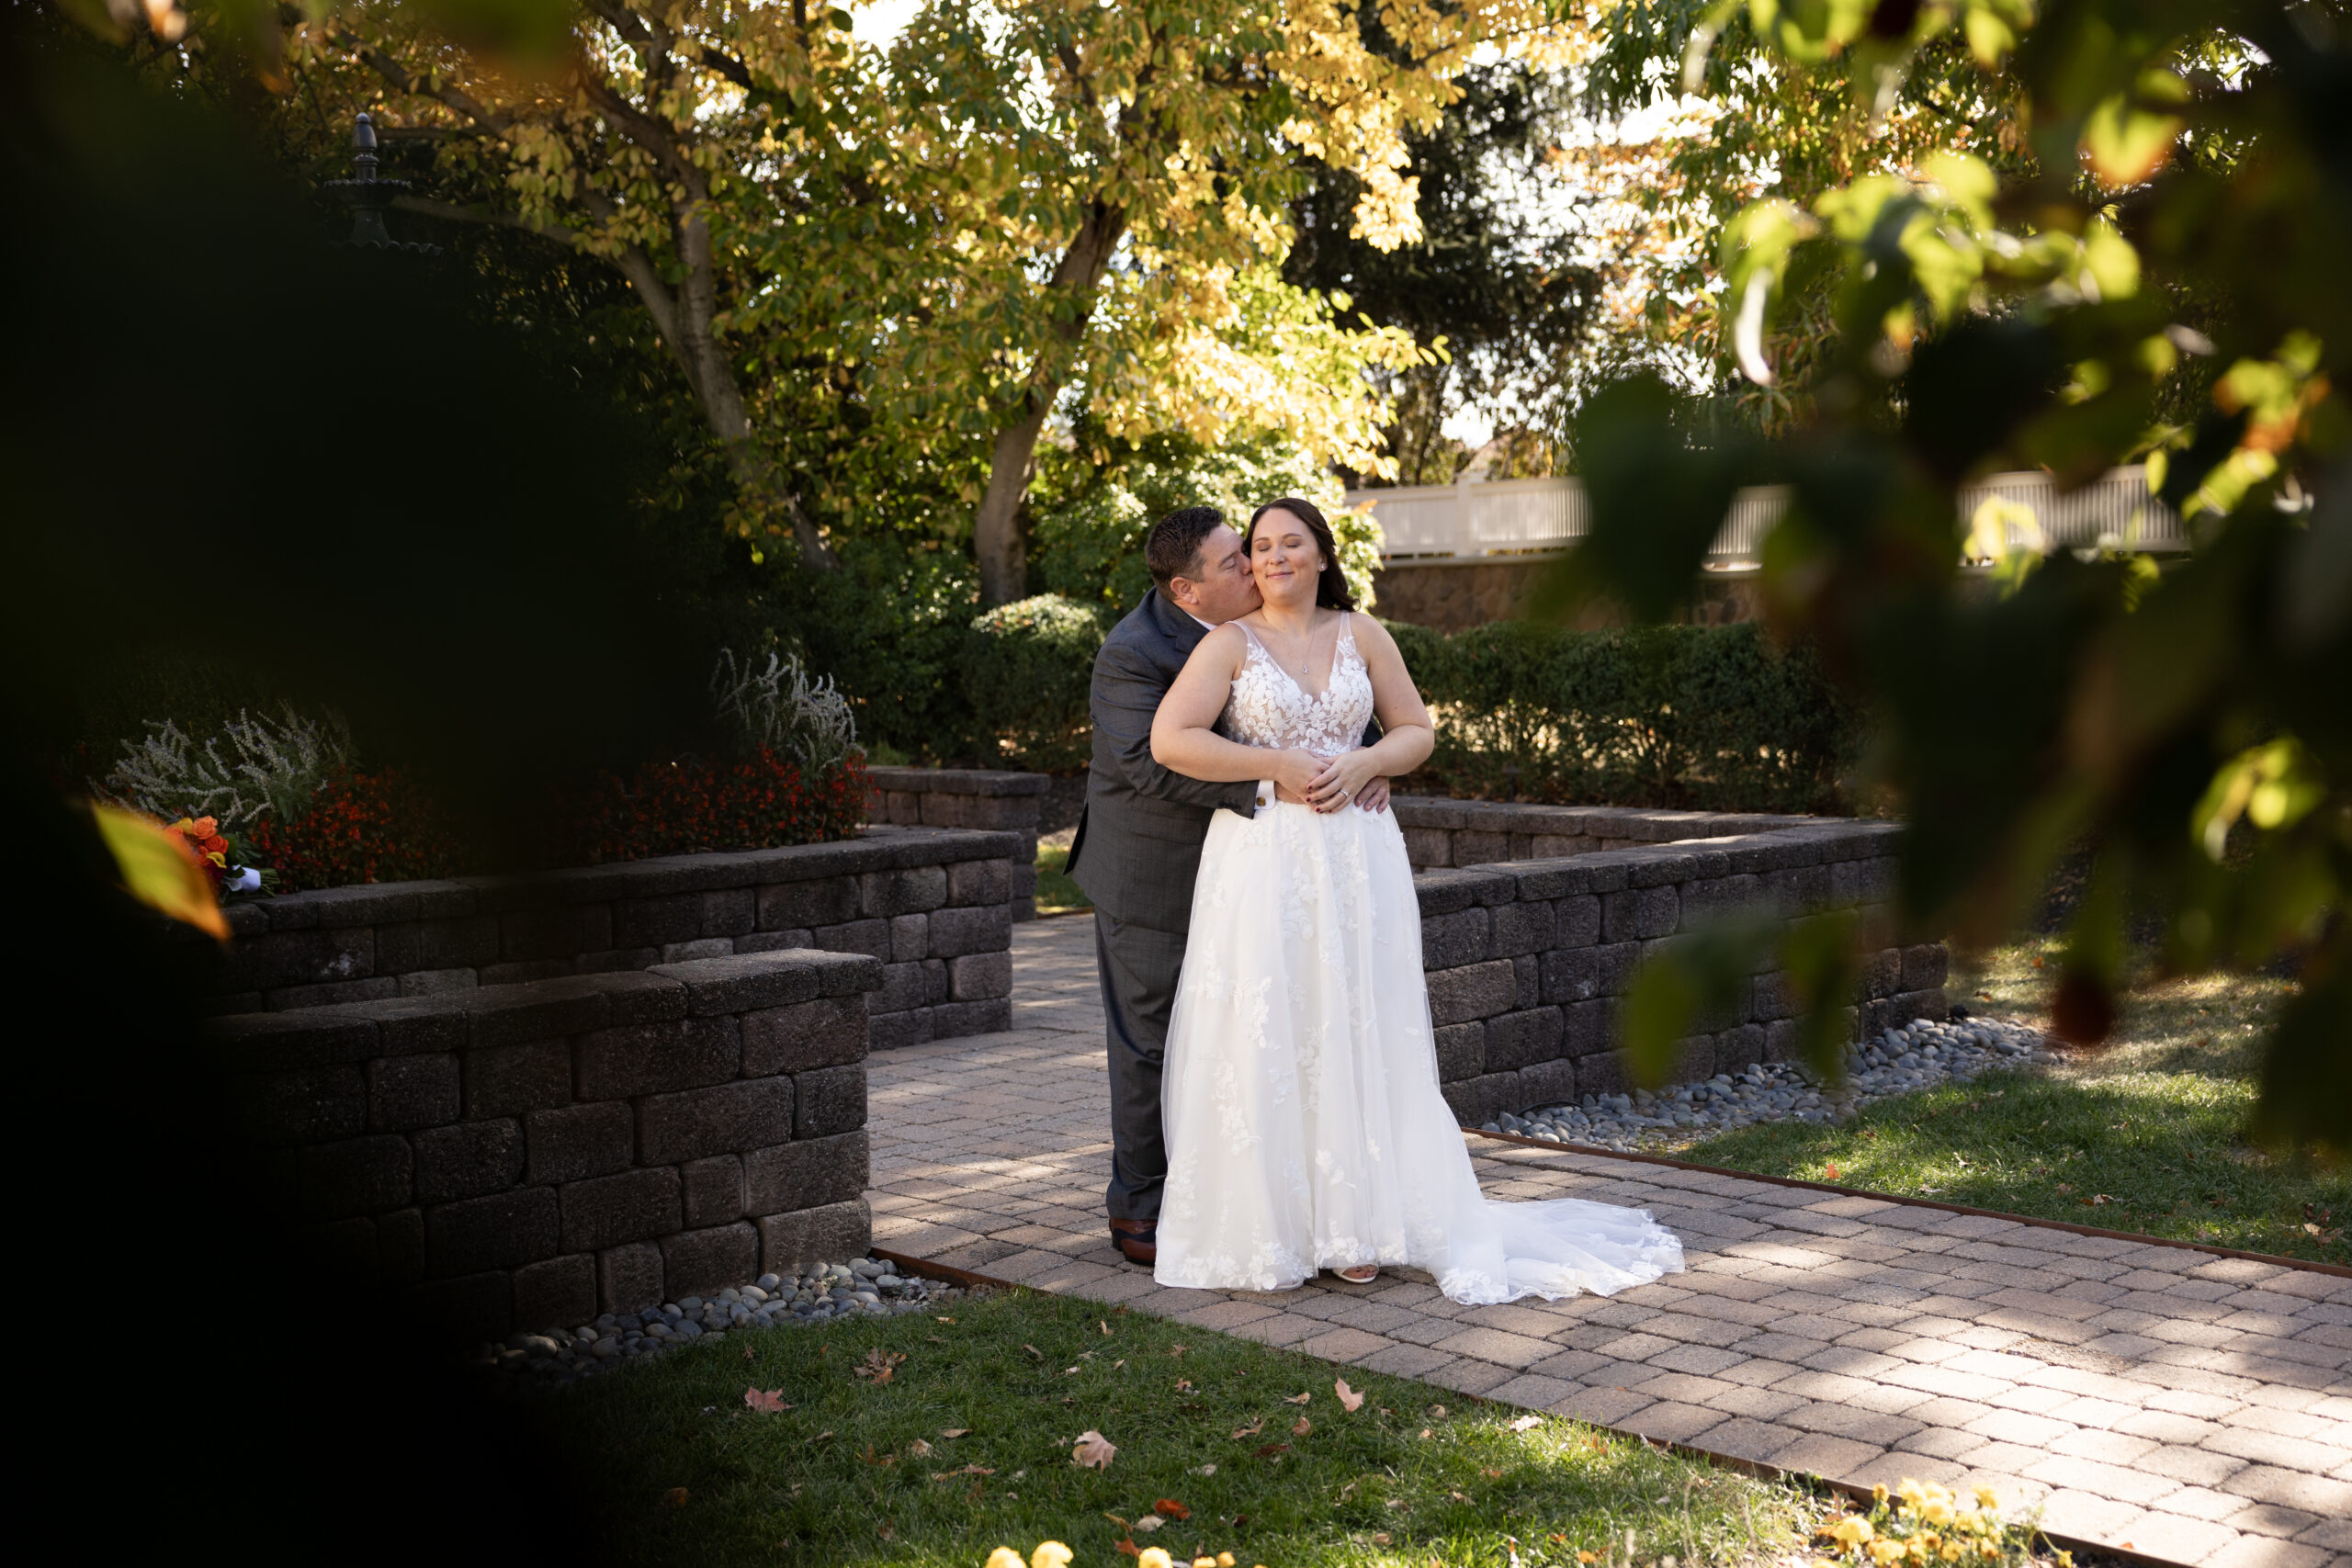
[[[1764,536],[1788,510],[1783,487],[1743,489],[1731,498],[1715,548],[1715,562],[1752,562]],[[1371,503],[1381,524],[1383,559],[1465,559],[1479,555],[1559,552],[1592,527],[1592,508],[1578,480],[1498,480],[1494,484],[1399,484],[1352,489],[1348,505]],[[2042,541],[2023,520],[2009,522],[2013,548],[2046,545],[2122,550],[2187,550],[2187,529],[2169,505],[2147,494],[2145,468],[2112,468],[2074,491],[2060,491],[2046,473],[2004,473],[1959,491],[1966,524],[1985,501],[2027,508]]]

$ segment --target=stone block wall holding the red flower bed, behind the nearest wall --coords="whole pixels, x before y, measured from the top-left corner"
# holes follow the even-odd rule
[[[1011,1023],[1016,872],[1035,837],[870,827],[833,844],[524,877],[372,882],[228,910],[212,1009],[259,1013],[818,947],[882,969],[873,1039]],[[202,938],[191,940],[191,950]]]

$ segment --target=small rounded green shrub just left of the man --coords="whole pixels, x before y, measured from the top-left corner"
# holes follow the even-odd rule
[[[971,717],[997,750],[983,764],[1073,773],[1094,752],[1087,689],[1103,623],[1077,599],[1042,592],[1016,599],[971,623],[964,696]]]

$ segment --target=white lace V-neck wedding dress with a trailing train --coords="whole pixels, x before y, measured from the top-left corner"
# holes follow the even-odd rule
[[[1249,628],[1244,625],[1247,635]],[[1225,733],[1336,755],[1371,717],[1341,630],[1308,696],[1249,637]],[[1421,905],[1395,813],[1218,811],[1162,1077],[1164,1286],[1287,1291],[1317,1269],[1411,1265],[1458,1302],[1611,1295],[1682,1272],[1646,1211],[1491,1204],[1437,1093]]]

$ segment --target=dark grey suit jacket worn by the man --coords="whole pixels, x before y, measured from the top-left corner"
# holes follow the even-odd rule
[[[1185,931],[1209,818],[1256,811],[1254,780],[1202,783],[1152,762],[1152,715],[1207,635],[1152,588],[1094,656],[1094,766],[1070,877],[1122,924]]]

